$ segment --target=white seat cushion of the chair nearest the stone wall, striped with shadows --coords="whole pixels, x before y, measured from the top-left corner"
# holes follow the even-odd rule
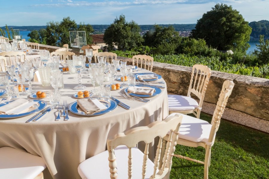
[[[191,97],[181,95],[168,95],[169,111],[187,111],[198,108],[197,101]]]

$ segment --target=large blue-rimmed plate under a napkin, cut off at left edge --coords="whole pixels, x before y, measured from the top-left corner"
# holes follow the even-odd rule
[[[40,99],[33,99],[31,101],[38,101],[38,103],[35,104],[34,106],[30,107],[28,112],[24,112],[24,113],[21,113],[21,114],[11,114],[11,115],[0,114],[0,118],[19,118],[19,117],[22,117],[22,116],[27,116],[27,115],[33,114],[35,112],[38,112],[38,111],[44,109],[47,106],[47,103],[45,101],[43,101],[43,100],[40,100]],[[0,107],[4,106],[4,105],[6,105],[6,104],[8,104],[10,102],[12,102],[12,101],[8,101],[6,103],[0,104]]]

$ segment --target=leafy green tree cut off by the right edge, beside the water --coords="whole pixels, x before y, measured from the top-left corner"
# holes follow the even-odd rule
[[[264,40],[264,36],[260,36],[260,44],[256,44],[257,50],[254,50],[254,54],[258,58],[259,64],[269,63],[269,40]]]

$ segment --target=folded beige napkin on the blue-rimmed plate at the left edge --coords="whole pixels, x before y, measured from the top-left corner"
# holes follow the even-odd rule
[[[1,114],[19,114],[25,112],[26,109],[32,107],[34,104],[38,103],[37,101],[29,102],[27,99],[19,98],[15,101],[10,102],[4,106],[0,107]]]

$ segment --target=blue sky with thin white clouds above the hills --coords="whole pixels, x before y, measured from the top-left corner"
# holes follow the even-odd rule
[[[248,22],[269,20],[269,0],[9,0],[0,27],[46,25],[70,16],[77,23],[111,24],[120,14],[138,24],[194,24],[216,3],[232,5]]]

